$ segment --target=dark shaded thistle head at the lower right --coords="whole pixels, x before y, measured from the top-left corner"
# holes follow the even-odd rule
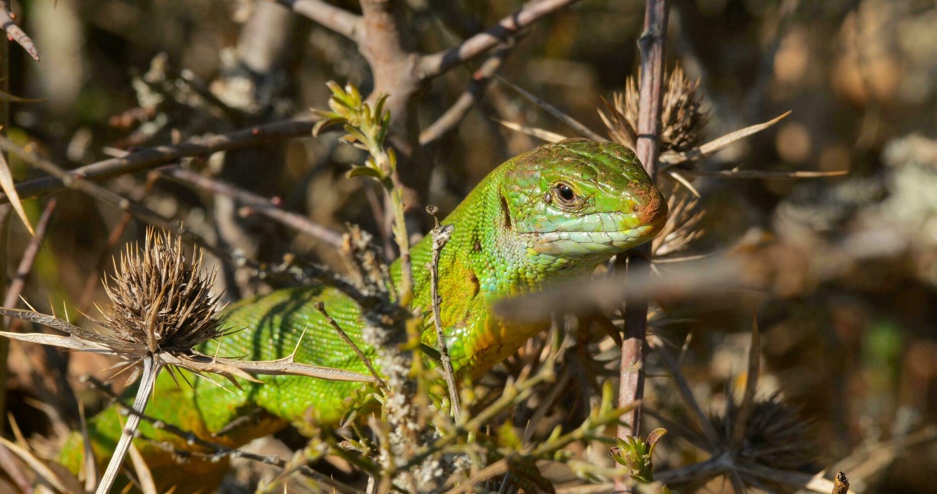
[[[731,393],[730,393],[731,395]],[[726,438],[732,437],[738,404],[729,400],[725,414],[712,418],[713,425]],[[816,444],[810,438],[813,424],[800,410],[785,403],[778,393],[766,400],[754,400],[745,422],[745,433],[737,458],[775,469],[797,471],[816,457]]]

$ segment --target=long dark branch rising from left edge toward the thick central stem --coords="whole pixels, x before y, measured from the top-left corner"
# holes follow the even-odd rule
[[[230,134],[205,138],[193,138],[176,145],[147,148],[119,158],[111,158],[68,171],[63,177],[43,177],[17,185],[21,197],[45,196],[66,188],[65,182],[76,179],[103,181],[119,175],[165,165],[180,158],[207,156],[220,151],[232,151],[277,142],[287,138],[308,136],[312,133],[311,119],[295,119],[273,124],[257,125]],[[0,195],[0,203],[7,202],[7,195]]]

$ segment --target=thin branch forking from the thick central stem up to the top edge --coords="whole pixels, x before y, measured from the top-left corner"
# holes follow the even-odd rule
[[[459,46],[430,55],[423,55],[419,62],[419,72],[424,80],[435,79],[445,74],[455,65],[489,51],[509,37],[517,35],[524,28],[543,16],[561,8],[569,7],[579,0],[539,0],[528,2],[520,10],[502,19],[498,24],[482,33],[471,36]]]

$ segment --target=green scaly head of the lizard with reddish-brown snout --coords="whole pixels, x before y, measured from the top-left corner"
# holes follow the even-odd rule
[[[661,192],[614,142],[566,139],[512,162],[502,209],[530,255],[602,262],[653,239],[666,221]]]

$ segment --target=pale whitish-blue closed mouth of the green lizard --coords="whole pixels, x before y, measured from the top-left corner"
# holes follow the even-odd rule
[[[641,225],[621,230],[555,230],[531,233],[532,248],[541,254],[616,254],[651,240],[658,225]]]

